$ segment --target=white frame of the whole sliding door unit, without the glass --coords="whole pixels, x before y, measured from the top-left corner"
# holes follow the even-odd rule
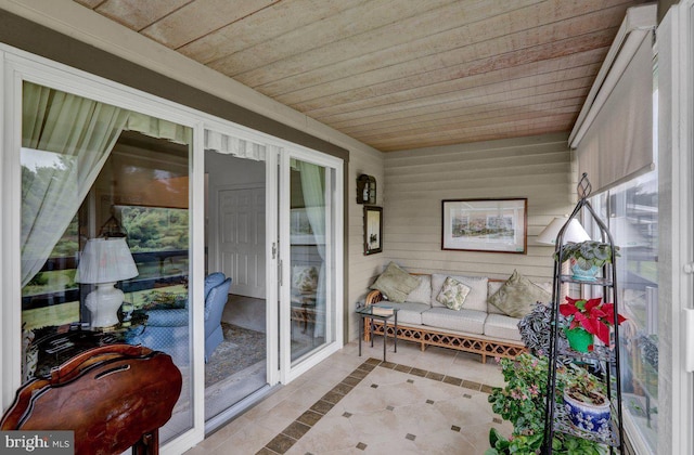
[[[282,352],[288,353],[288,314],[280,326],[280,314],[277,304],[269,304],[267,312],[268,327],[268,382],[270,386],[278,382],[287,384],[300,374],[327,358],[342,348],[343,344],[343,296],[344,296],[344,160],[321,152],[303,147],[246,127],[221,120],[209,114],[170,102],[142,92],[140,90],[104,79],[89,73],[72,68],[67,65],[50,61],[48,58],[17,50],[0,43],[0,91],[3,94],[3,106],[0,110],[0,144],[4,147],[0,161],[0,200],[2,202],[3,220],[16,220],[5,222],[0,226],[0,297],[3,302],[18,302],[21,300],[21,278],[18,264],[21,263],[20,250],[20,222],[21,220],[21,165],[20,150],[22,145],[22,82],[28,80],[56,90],[75,93],[98,102],[103,102],[118,107],[136,110],[145,115],[177,122],[193,129],[193,152],[190,156],[190,207],[193,216],[190,217],[190,298],[193,301],[203,301],[202,277],[205,273],[205,220],[202,213],[205,204],[205,176],[204,176],[204,131],[210,126],[223,126],[226,129],[242,130],[255,138],[262,138],[268,145],[266,168],[266,272],[267,272],[267,299],[278,302],[284,298],[290,302],[290,269],[285,268],[282,281],[285,286],[275,286],[280,282],[278,264],[282,255],[280,238],[288,238],[290,207],[287,202],[282,205],[279,194],[282,187],[281,181],[288,179],[290,159],[297,158],[304,161],[324,166],[333,171],[331,181],[333,213],[333,235],[337,240],[334,245],[334,327],[333,342],[324,346],[318,352],[309,355],[304,362],[291,367],[288,354],[286,360],[279,356],[279,347]],[[282,157],[282,162],[281,158]],[[283,179],[279,170],[286,174]],[[287,180],[288,182],[288,180]],[[288,183],[287,183],[288,184]],[[286,209],[279,210],[279,207]],[[280,220],[279,213],[283,213]],[[282,227],[282,230],[280,230]],[[273,252],[271,239],[275,239],[277,253]],[[285,242],[286,243],[286,242]],[[288,258],[288,245],[285,246],[284,257]],[[204,384],[204,309],[202,306],[193,306],[191,342],[193,346],[193,385]],[[21,386],[21,321],[20,308],[14,304],[0,306],[0,405],[2,408],[10,406],[14,400],[14,392]],[[279,338],[283,335],[283,338]],[[163,445],[165,452],[182,453],[194,446],[205,438],[205,412],[204,387],[192,387],[193,400],[193,427],[174,440]]]

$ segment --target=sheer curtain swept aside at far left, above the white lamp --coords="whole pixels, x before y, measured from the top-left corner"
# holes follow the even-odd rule
[[[115,106],[24,83],[22,286],[41,270],[75,217],[128,114]]]

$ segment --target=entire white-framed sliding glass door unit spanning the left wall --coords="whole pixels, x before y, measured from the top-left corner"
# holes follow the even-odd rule
[[[23,382],[69,359],[76,341],[142,344],[182,373],[159,432],[167,451],[182,453],[210,420],[222,425],[229,406],[241,410],[342,347],[342,159],[51,62],[12,58],[1,61],[13,75],[2,84],[10,115],[0,138],[2,408]],[[233,136],[210,134],[207,122]],[[208,349],[211,272],[233,284],[211,332],[223,340]],[[223,322],[259,335],[250,343]],[[241,401],[206,395],[205,386],[232,377],[241,346],[252,347],[258,381]]]

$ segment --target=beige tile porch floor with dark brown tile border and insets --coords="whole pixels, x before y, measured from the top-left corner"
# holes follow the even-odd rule
[[[478,355],[382,339],[356,341],[187,452],[197,454],[483,454],[501,368]]]

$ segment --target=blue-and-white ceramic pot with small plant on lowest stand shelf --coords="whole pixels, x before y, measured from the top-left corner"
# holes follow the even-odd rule
[[[605,385],[584,368],[569,366],[573,374],[564,386],[564,408],[571,425],[579,430],[609,437],[609,400]]]

